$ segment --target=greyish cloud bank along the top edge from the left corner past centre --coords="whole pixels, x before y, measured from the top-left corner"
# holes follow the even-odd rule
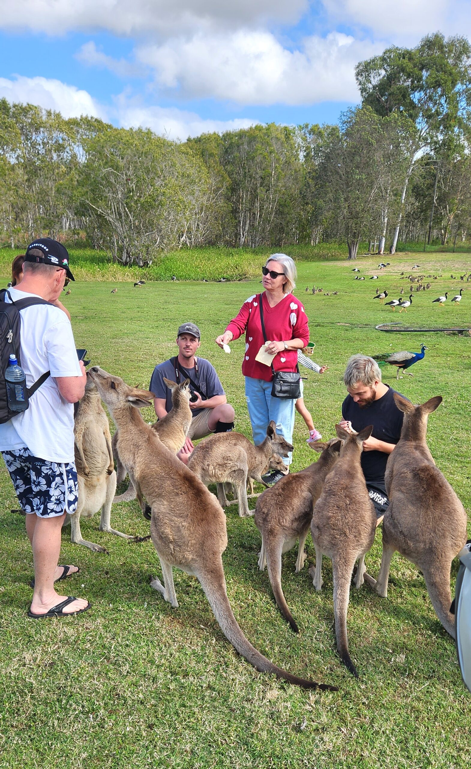
[[[308,0],[0,0],[0,27],[47,35],[105,29],[116,35],[176,34],[266,20],[294,23]]]

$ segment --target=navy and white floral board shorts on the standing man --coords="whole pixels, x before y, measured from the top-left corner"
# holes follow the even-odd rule
[[[34,457],[28,448],[2,451],[22,510],[40,518],[55,518],[64,511],[75,513],[78,502],[74,462],[61,464]]]

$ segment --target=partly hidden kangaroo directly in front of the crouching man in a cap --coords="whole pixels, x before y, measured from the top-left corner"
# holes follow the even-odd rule
[[[177,451],[180,451],[185,442],[188,430],[190,429],[191,419],[193,418],[193,414],[191,413],[190,408],[190,380],[185,379],[185,381],[177,384],[176,382],[173,382],[170,379],[166,379],[164,377],[164,382],[171,390],[172,408],[168,414],[164,416],[164,418],[154,422],[151,427],[158,433],[158,437],[161,439],[162,443],[167,446],[170,451],[173,451],[174,454],[177,454]],[[118,431],[114,433],[111,445],[113,448],[113,456],[116,459],[116,482],[119,484],[124,481],[128,471],[119,458],[117,444]],[[124,491],[124,494],[120,494],[118,497],[115,497],[113,501],[130,502],[135,498],[136,490],[130,482],[127,490]]]

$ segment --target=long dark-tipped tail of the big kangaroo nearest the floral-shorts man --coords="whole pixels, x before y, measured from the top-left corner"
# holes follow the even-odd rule
[[[338,691],[335,686],[329,684],[317,684],[316,681],[307,681],[305,678],[298,678],[297,676],[287,673],[280,667],[274,665],[267,657],[260,654],[256,648],[247,641],[244,633],[240,630],[237,620],[231,609],[231,604],[227,598],[226,581],[224,578],[224,569],[222,567],[222,561],[214,566],[211,564],[210,571],[201,571],[197,573],[197,578],[201,582],[201,587],[206,594],[206,598],[211,605],[211,609],[214,611],[214,617],[217,619],[221,630],[228,641],[244,657],[247,662],[250,662],[257,671],[261,673],[274,673],[278,678],[283,678],[284,681],[288,681],[290,684],[303,687],[304,689],[320,689],[327,691]]]

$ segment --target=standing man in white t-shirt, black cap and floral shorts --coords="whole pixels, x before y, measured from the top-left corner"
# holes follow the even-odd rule
[[[12,301],[33,296],[54,302],[66,276],[74,280],[67,249],[51,238],[28,246],[23,271],[21,283],[8,289]],[[90,606],[81,598],[58,594],[54,587],[55,581],[78,571],[75,566],[58,566],[58,557],[65,514],[77,509],[73,404],[83,397],[87,375],[63,311],[54,305],[32,305],[20,311],[20,318],[26,386],[30,388],[46,371],[51,375],[32,394],[26,411],[0,424],[0,451],[26,513],[32,544],[35,579],[28,616],[61,617]]]

